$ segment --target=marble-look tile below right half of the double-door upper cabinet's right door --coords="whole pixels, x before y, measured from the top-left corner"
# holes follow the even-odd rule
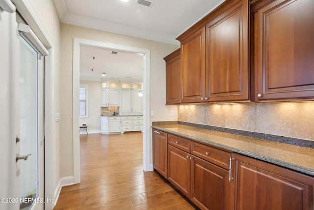
[[[243,103],[243,104],[225,104],[225,127],[256,131],[256,104]]]

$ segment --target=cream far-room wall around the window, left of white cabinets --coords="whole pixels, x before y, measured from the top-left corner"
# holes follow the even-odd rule
[[[79,85],[88,86],[88,118],[79,118],[79,125],[85,123],[88,133],[100,132],[101,82],[80,80]],[[81,133],[86,133],[81,129]]]

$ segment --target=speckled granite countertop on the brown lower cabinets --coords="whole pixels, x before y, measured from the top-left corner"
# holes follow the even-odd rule
[[[314,176],[314,149],[311,148],[182,124],[153,124],[152,127]]]

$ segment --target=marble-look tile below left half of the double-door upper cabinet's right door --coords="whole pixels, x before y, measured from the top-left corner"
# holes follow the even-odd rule
[[[223,105],[213,104],[204,106],[204,124],[225,127],[225,113],[223,112]]]

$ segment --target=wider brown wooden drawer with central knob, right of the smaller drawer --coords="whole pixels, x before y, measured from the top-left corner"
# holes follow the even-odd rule
[[[192,142],[191,154],[203,158],[215,165],[229,170],[231,153],[216,148]]]

